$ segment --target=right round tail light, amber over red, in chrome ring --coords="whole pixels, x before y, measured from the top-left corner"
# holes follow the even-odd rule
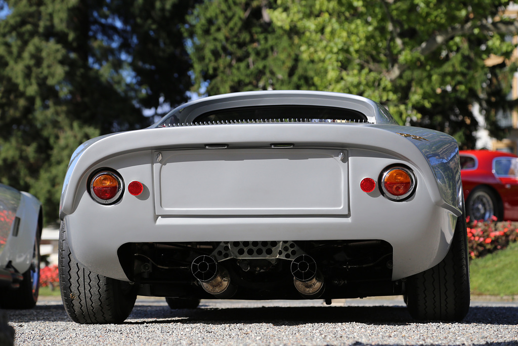
[[[393,167],[383,173],[381,187],[387,198],[403,200],[414,190],[414,174],[407,168]]]

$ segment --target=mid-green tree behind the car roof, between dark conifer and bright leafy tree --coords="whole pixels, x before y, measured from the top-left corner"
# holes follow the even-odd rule
[[[213,0],[188,17],[194,90],[209,95],[267,89],[314,89],[309,62],[300,61],[293,35],[271,23],[268,0]],[[289,30],[288,30],[289,31]]]

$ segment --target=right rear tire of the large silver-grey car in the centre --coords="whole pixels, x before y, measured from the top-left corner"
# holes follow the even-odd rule
[[[469,310],[469,267],[465,214],[458,217],[446,257],[411,276],[405,301],[416,320],[461,321]]]

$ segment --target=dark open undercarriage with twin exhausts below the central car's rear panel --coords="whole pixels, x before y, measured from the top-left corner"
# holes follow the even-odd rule
[[[127,243],[118,256],[143,296],[330,301],[403,289],[382,240]]]

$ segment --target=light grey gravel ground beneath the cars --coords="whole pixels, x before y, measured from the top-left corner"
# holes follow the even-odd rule
[[[6,310],[15,345],[518,345],[518,302],[472,301],[462,323],[418,323],[400,297],[322,301],[203,300],[170,310],[139,297],[121,325],[71,322],[59,298]]]

